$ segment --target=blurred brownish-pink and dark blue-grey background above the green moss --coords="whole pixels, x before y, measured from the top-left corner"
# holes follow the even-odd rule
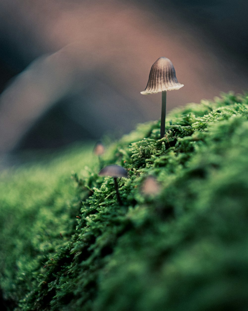
[[[1,0],[0,153],[159,119],[161,94],[140,91],[161,56],[184,84],[167,111],[247,91],[247,19],[245,0]]]

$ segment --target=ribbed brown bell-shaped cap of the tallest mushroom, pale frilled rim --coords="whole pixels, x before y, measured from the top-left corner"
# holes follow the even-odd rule
[[[177,81],[176,72],[171,61],[160,57],[152,65],[147,86],[141,94],[147,95],[162,91],[178,90],[184,86]]]

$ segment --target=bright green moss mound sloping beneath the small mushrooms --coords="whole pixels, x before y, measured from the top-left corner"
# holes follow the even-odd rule
[[[92,146],[3,172],[6,309],[247,310],[247,118],[248,96],[223,94],[172,111],[162,139],[150,122],[112,144],[122,207]]]

